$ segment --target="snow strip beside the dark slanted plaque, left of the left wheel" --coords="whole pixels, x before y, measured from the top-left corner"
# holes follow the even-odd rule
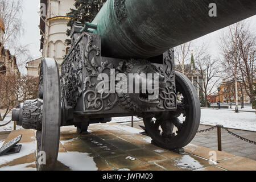
[[[14,159],[22,158],[23,156],[30,155],[36,151],[36,142],[19,143],[22,144],[20,152],[16,154],[0,156],[0,165],[9,163]],[[2,168],[1,168],[2,169]]]

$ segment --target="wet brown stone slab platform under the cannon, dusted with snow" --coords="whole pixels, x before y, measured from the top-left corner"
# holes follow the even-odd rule
[[[184,154],[151,144],[142,130],[119,123],[89,126],[77,134],[75,127],[61,127],[60,147],[55,170],[256,170],[255,160],[227,152],[189,144]],[[19,154],[0,156],[0,170],[35,170],[35,130],[12,131],[6,142],[23,134]],[[209,163],[216,152],[216,163]]]

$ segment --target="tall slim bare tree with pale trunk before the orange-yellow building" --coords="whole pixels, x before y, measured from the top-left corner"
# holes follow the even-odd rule
[[[239,37],[242,31],[243,23],[239,22],[229,27],[229,31],[224,34],[221,40],[221,51],[224,59],[222,66],[226,72],[232,73],[236,90],[236,113],[238,113],[238,85],[237,79],[240,74],[239,64],[241,61]]]

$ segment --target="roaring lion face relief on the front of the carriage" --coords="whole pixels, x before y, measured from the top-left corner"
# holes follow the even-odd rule
[[[121,61],[117,69],[127,77],[126,93],[118,94],[119,105],[129,111],[141,112],[159,104],[158,96],[160,90],[166,88],[166,82],[155,65],[147,60],[131,59]]]

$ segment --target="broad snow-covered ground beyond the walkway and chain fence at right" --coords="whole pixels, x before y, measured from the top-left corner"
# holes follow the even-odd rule
[[[231,129],[256,131],[256,114],[249,112],[235,113],[224,109],[201,109],[201,121],[203,125],[223,125]]]

